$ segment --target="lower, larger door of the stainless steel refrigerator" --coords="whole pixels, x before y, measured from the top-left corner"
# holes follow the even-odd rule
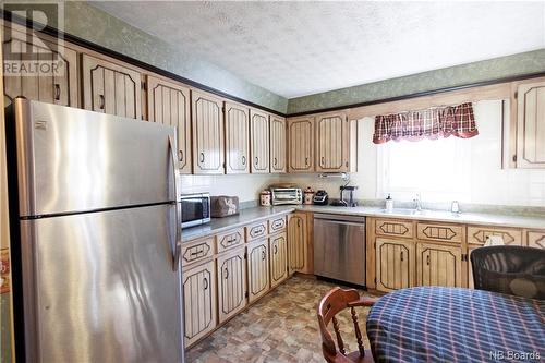
[[[174,208],[21,221],[28,362],[183,362]]]

